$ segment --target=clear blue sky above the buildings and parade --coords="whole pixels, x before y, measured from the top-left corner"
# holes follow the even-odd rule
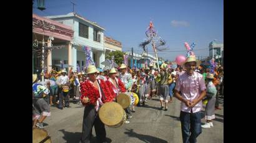
[[[145,30],[150,20],[155,30],[165,40],[169,49],[159,52],[165,60],[175,60],[185,55],[184,42],[195,42],[195,55],[209,55],[209,43],[217,39],[224,42],[223,0],[72,0],[75,12],[106,29],[104,34],[122,42],[123,51],[134,47],[141,53],[140,42],[145,40]],[[46,10],[36,9],[39,16],[62,15],[72,12],[69,0],[45,0]],[[148,46],[153,54],[152,47]],[[199,49],[199,50],[197,50]],[[202,50],[200,50],[202,49]],[[180,51],[180,52],[175,52]]]

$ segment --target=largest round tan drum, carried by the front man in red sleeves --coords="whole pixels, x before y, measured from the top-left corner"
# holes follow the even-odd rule
[[[126,111],[116,102],[104,103],[99,109],[99,119],[109,127],[120,127],[126,121]]]

